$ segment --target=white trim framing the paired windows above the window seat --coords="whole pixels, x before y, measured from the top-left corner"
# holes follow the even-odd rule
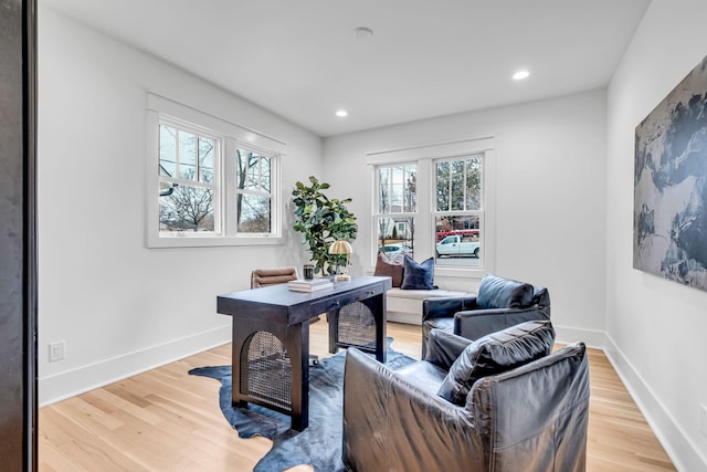
[[[484,264],[479,268],[473,266],[444,266],[436,265],[434,268],[435,276],[449,277],[478,277],[481,279],[487,272],[495,272],[496,266],[496,140],[493,136],[483,136],[476,138],[464,138],[443,143],[422,144],[408,147],[400,147],[387,150],[377,150],[366,154],[366,162],[370,167],[371,179],[373,182],[371,191],[372,206],[378,203],[376,195],[377,182],[376,167],[387,166],[402,162],[416,162],[418,165],[418,207],[414,214],[408,213],[415,218],[415,225],[420,228],[432,228],[434,217],[440,212],[434,211],[435,199],[432,191],[432,179],[434,176],[433,166],[436,159],[446,159],[454,157],[468,156],[474,154],[483,154],[484,169],[483,178],[483,196],[482,202],[484,208],[484,243],[482,244],[482,261]],[[377,209],[372,214],[378,216]],[[378,240],[377,228],[371,220],[371,243]],[[424,261],[434,256],[434,237],[432,231],[415,231],[415,260]],[[374,251],[371,251],[371,268],[376,265]]]

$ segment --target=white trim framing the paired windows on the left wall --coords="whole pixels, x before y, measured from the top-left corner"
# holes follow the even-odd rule
[[[220,141],[226,156],[235,156],[238,148],[249,149],[267,157],[272,157],[272,188],[275,198],[272,199],[272,228],[273,233],[267,234],[238,234],[235,232],[236,218],[230,212],[224,213],[223,228],[220,228],[221,235],[214,233],[176,233],[170,237],[160,237],[159,225],[159,195],[156,189],[159,187],[159,124],[160,116],[168,117],[176,124],[186,123],[188,128],[205,129],[210,137],[220,135]],[[226,122],[214,115],[202,112],[189,105],[166,98],[161,95],[147,93],[147,116],[146,116],[146,154],[145,154],[145,228],[146,244],[148,248],[203,248],[223,245],[274,245],[282,244],[282,211],[285,208],[283,201],[285,192],[282,190],[281,159],[285,156],[286,143],[267,136],[260,132],[242,127],[234,123]],[[217,136],[218,137],[218,136]],[[225,199],[235,201],[235,189],[228,188],[225,176],[229,172],[235,175],[235,159],[224,159],[219,179],[219,188],[222,195],[217,204],[221,204]],[[219,228],[214,228],[219,231]]]

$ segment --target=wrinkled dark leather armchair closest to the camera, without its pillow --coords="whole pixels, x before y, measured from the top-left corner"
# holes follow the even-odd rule
[[[584,471],[584,344],[482,377],[457,405],[435,390],[469,343],[476,342],[435,329],[429,356],[398,370],[348,349],[342,443],[347,470]],[[504,355],[518,360],[517,350],[515,346]]]

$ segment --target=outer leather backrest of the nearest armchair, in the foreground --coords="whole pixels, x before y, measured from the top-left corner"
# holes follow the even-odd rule
[[[583,343],[482,378],[466,408],[477,422],[487,471],[585,469],[589,361]]]

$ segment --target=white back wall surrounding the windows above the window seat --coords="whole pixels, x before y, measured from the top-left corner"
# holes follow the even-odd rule
[[[366,153],[494,136],[495,273],[549,287],[559,339],[602,346],[605,126],[605,93],[595,91],[326,138],[325,177],[359,216],[354,273],[373,269]],[[472,279],[435,283],[478,287]]]

